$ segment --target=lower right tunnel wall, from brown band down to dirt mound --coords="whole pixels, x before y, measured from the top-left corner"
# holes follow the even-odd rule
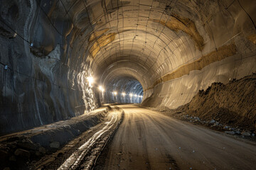
[[[227,84],[256,72],[256,53],[234,55],[213,62],[201,70],[194,70],[178,79],[158,84],[144,92],[144,106],[177,108],[191,101],[201,89],[206,90],[214,82]]]

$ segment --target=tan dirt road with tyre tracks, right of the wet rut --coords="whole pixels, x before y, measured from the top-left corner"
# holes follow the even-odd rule
[[[256,169],[256,145],[132,105],[95,169]]]

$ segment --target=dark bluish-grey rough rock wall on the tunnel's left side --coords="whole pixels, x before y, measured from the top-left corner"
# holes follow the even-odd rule
[[[0,1],[0,133],[64,120],[98,106],[86,81],[90,64],[78,60],[82,54],[73,48],[78,28],[60,5]]]

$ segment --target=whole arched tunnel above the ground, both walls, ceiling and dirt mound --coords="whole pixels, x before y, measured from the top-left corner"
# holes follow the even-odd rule
[[[255,130],[255,1],[1,0],[0,11],[1,135],[125,103]]]

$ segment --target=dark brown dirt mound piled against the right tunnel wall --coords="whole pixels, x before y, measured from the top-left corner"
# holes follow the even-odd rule
[[[233,79],[228,84],[213,83],[206,91],[199,91],[190,103],[177,108],[176,111],[254,131],[256,74],[239,80]]]

